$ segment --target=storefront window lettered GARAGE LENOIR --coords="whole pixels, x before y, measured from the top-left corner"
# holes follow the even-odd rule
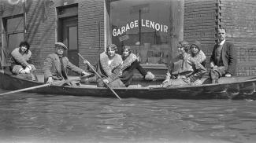
[[[112,42],[131,46],[142,64],[165,64],[170,50],[170,0],[109,2]]]

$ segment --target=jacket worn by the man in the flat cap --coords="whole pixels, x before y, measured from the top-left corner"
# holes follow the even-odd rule
[[[76,72],[78,75],[81,75],[83,70],[76,67],[76,65],[69,62],[67,57],[62,57],[64,73],[61,73],[61,61],[56,53],[51,53],[46,57],[46,60],[43,63],[43,74],[44,78],[47,80],[49,77],[53,77],[55,80],[68,79],[66,69]]]

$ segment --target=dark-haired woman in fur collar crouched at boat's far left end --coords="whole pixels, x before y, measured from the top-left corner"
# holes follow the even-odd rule
[[[35,71],[35,66],[29,64],[32,52],[28,42],[20,42],[19,48],[13,49],[11,53],[10,70],[14,75],[20,75],[24,79],[32,79],[31,72]]]

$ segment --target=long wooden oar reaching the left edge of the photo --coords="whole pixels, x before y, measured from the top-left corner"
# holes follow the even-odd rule
[[[58,85],[58,84],[64,84],[64,83],[69,83],[69,82],[72,82],[73,80],[78,80],[78,79],[84,79],[84,78],[87,78],[87,77],[90,77],[91,75],[87,75],[87,76],[82,76],[82,77],[76,77],[76,78],[73,78],[73,79],[67,79],[67,80],[64,80],[64,81],[58,81],[58,82],[54,82],[52,85]],[[18,93],[18,92],[22,92],[22,91],[28,91],[28,90],[35,90],[35,89],[38,89],[38,88],[42,88],[42,87],[46,87],[46,86],[52,86],[52,85],[49,85],[49,84],[43,84],[43,85],[39,85],[39,86],[32,86],[32,87],[28,87],[28,88],[24,88],[24,89],[20,89],[20,90],[13,90],[13,91],[9,91],[7,93],[2,93],[0,94],[1,95],[6,95],[6,94],[15,94],[15,93]]]

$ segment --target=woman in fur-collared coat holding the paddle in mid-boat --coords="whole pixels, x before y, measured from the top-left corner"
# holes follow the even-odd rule
[[[106,52],[99,55],[99,60],[96,64],[96,72],[102,77],[97,76],[97,86],[103,87],[108,84],[109,87],[125,87],[124,83],[119,78],[121,76],[122,57],[117,54],[117,46],[110,44],[106,47]],[[84,64],[90,64],[88,61],[83,61]]]

